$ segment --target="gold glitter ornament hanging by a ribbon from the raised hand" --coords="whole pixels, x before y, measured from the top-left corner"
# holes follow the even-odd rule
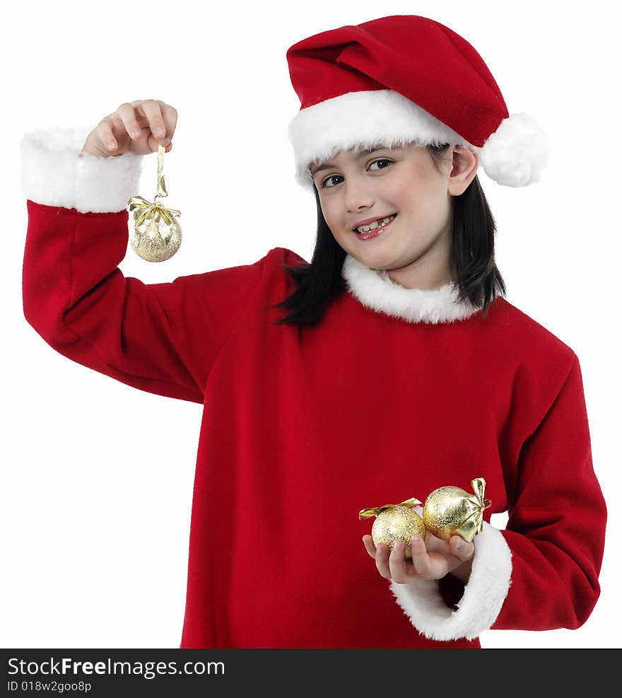
[[[158,194],[153,204],[135,196],[128,199],[127,210],[134,216],[134,233],[130,234],[132,250],[147,262],[165,262],[179,250],[182,244],[182,228],[175,220],[180,211],[166,209],[159,199],[168,197],[162,168],[164,146],[158,144]]]

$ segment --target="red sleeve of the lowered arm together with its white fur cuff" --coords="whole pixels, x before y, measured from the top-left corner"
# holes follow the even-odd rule
[[[488,629],[575,629],[599,597],[605,501],[594,475],[581,371],[568,373],[522,443],[505,530],[483,524],[466,584],[392,582],[397,603],[435,640]]]

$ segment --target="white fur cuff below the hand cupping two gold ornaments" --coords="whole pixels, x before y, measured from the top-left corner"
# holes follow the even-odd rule
[[[500,531],[486,522],[474,544],[471,576],[456,611],[442,600],[436,580],[392,581],[389,586],[413,626],[430,639],[472,640],[490,629],[499,615],[511,583],[510,547]]]

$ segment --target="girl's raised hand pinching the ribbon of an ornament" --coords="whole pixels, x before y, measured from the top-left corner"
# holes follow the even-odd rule
[[[160,100],[125,102],[88,134],[82,152],[101,158],[127,152],[147,155],[157,151],[161,141],[168,153],[176,125],[177,110],[170,104]]]

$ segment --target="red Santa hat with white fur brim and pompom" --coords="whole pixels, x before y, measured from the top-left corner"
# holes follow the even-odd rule
[[[427,17],[322,32],[291,46],[287,61],[300,98],[289,124],[295,178],[311,191],[311,163],[359,146],[466,146],[507,187],[534,184],[546,165],[548,144],[535,120],[510,116],[474,47]]]

